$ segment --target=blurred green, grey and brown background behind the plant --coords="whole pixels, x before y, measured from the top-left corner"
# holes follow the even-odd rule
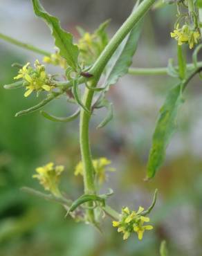
[[[45,8],[62,20],[62,26],[77,37],[75,26],[92,31],[111,18],[109,35],[129,15],[132,0],[42,1]],[[143,34],[134,66],[167,66],[176,59],[176,42],[169,38],[176,10],[166,6],[145,18]],[[0,2],[0,31],[24,42],[53,50],[53,39],[43,21],[37,19],[30,1]],[[188,58],[191,52],[188,53]],[[194,79],[185,95],[179,115],[178,131],[167,149],[166,162],[156,178],[143,181],[158,109],[168,89],[176,81],[167,76],[132,77],[127,75],[109,91],[114,118],[103,129],[95,127],[104,117],[96,111],[91,122],[94,158],[107,156],[116,173],[110,173],[104,191],[115,192],[109,203],[118,211],[123,205],[145,208],[158,188],[158,201],[151,214],[154,230],[145,232],[143,241],[132,235],[127,241],[103,221],[103,235],[91,226],[64,219],[62,206],[21,192],[29,186],[38,190],[32,179],[35,167],[49,161],[63,164],[63,190],[71,199],[82,194],[82,179],[73,175],[80,161],[78,120],[59,124],[45,120],[39,113],[15,118],[21,109],[39,101],[35,95],[24,98],[24,91],[6,91],[17,73],[13,62],[24,64],[42,56],[0,42],[0,256],[156,256],[160,241],[166,239],[169,255],[202,255],[202,101],[201,81]],[[50,69],[53,73],[54,69]],[[46,109],[58,116],[72,113],[65,100],[55,100]]]

